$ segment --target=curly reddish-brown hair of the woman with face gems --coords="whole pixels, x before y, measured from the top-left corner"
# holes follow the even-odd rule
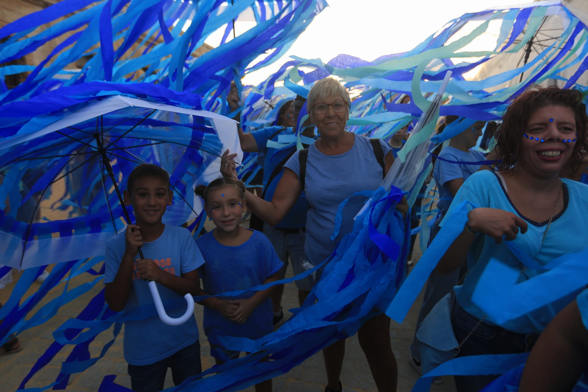
[[[588,116],[586,116],[586,106],[582,100],[582,92],[560,89],[557,86],[547,88],[531,86],[513,99],[503,113],[502,123],[494,135],[496,159],[502,160],[497,164],[499,169],[512,169],[516,165],[523,133],[529,119],[537,109],[546,106],[563,106],[573,110],[576,119],[577,141],[567,166],[577,167],[588,151]]]

